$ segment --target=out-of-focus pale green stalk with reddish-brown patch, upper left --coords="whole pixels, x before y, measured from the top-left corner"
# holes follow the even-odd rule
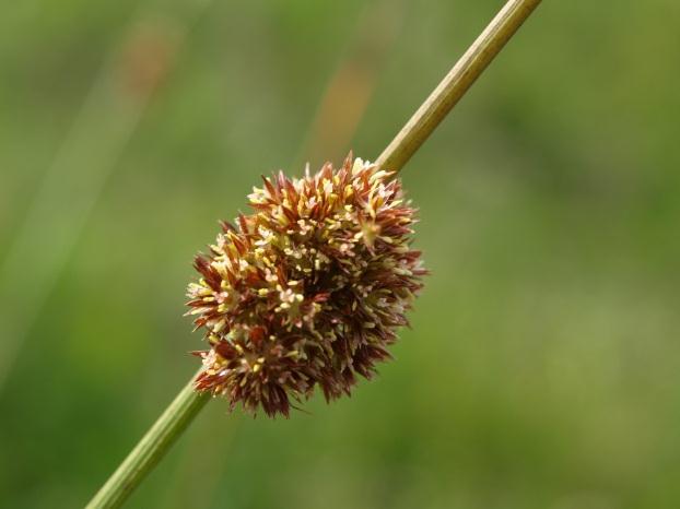
[[[207,2],[199,2],[201,9]],[[187,24],[139,16],[93,83],[0,265],[0,391],[126,144],[172,67]],[[31,276],[26,277],[30,272]],[[9,306],[9,303],[12,303]]]

